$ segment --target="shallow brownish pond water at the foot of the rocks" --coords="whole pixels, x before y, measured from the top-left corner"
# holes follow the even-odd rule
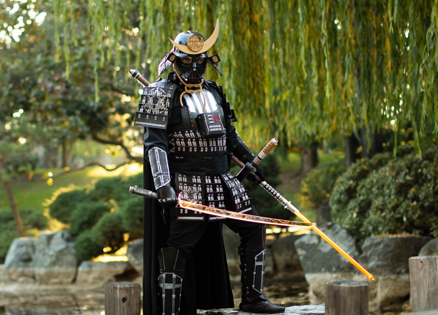
[[[233,286],[234,305],[239,306],[240,286]],[[307,283],[271,283],[265,286],[265,295],[275,304],[285,307],[309,303]],[[0,292],[0,315],[105,315],[104,294],[93,292],[32,292],[13,294]],[[406,309],[406,313],[410,310]],[[403,312],[370,310],[370,315],[398,315]]]

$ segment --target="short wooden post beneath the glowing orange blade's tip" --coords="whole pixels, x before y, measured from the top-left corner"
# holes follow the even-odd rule
[[[368,283],[338,280],[325,283],[325,315],[368,315]]]

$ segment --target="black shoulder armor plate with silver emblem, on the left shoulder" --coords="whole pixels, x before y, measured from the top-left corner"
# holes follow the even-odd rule
[[[134,125],[166,129],[169,122],[172,98],[177,85],[160,80],[145,87],[135,113]]]

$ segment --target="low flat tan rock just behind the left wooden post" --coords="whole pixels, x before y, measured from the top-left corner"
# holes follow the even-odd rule
[[[129,262],[83,261],[78,268],[76,284],[87,288],[103,287],[105,283],[115,282],[115,277],[124,273],[128,267]]]

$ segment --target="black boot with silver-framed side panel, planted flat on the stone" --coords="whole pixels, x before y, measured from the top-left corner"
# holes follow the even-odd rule
[[[239,247],[242,271],[242,302],[239,310],[251,313],[284,313],[284,307],[272,304],[263,294],[266,250],[263,247]],[[262,244],[261,244],[262,245]]]

